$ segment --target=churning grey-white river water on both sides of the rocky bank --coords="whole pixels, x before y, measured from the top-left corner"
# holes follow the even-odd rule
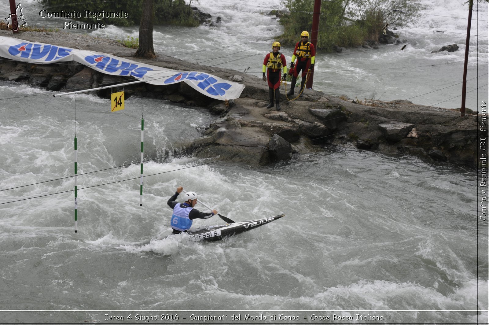
[[[61,26],[36,18],[37,2],[22,4],[32,24]],[[222,23],[156,26],[156,52],[259,76],[267,38],[281,31],[262,13],[280,2],[193,4]],[[473,110],[488,93],[487,5],[478,10],[467,83],[478,89],[467,93]],[[460,107],[466,16],[457,1],[431,2],[405,27],[403,51],[318,54],[314,88]],[[137,27],[92,34],[137,37]],[[459,51],[430,54],[453,43]],[[283,48],[288,59],[291,51]],[[348,147],[261,168],[161,159],[215,117],[136,97],[111,113],[109,99],[45,93],[0,84],[2,323],[488,324],[488,223],[478,218],[477,170]],[[119,166],[139,159],[142,116],[145,157],[155,160],[144,165],[140,207],[139,164]],[[78,187],[88,187],[78,191],[77,233],[75,134],[85,174]],[[285,217],[215,243],[166,238],[166,201],[179,185],[236,221]],[[194,225],[222,223],[216,216]]]

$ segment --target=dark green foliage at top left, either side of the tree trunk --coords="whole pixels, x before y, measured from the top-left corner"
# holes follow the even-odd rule
[[[78,1],[70,0],[38,0],[45,10],[50,12],[80,12],[85,23],[104,23],[117,26],[139,25],[142,15],[142,2],[140,0],[117,0],[117,1],[92,1],[84,2],[83,6]],[[128,18],[85,18],[85,10],[97,13],[121,12],[128,13]],[[199,20],[194,16],[194,11],[184,0],[155,0],[154,5],[155,24],[173,24],[178,26],[198,26]]]

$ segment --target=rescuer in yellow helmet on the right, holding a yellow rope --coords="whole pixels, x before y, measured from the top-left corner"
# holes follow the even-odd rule
[[[290,61],[290,68],[295,69],[292,73],[292,82],[290,84],[290,91],[287,93],[287,96],[291,96],[294,94],[295,83],[297,82],[297,76],[299,75],[299,71],[302,70],[301,74],[301,91],[299,97],[302,97],[302,90],[306,85],[307,71],[309,69],[314,68],[314,60],[316,58],[316,50],[314,49],[314,45],[311,44],[309,40],[309,32],[303,31],[301,33],[301,41],[297,42],[294,48],[294,52],[292,54],[292,60]],[[295,58],[297,57],[297,62],[294,65]]]

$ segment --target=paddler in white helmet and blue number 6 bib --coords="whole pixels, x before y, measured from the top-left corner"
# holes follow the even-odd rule
[[[216,210],[212,210],[212,212],[200,212],[198,209],[194,209],[194,206],[197,204],[197,194],[195,192],[185,193],[184,203],[175,201],[182,190],[183,187],[178,186],[175,194],[167,202],[168,206],[173,209],[170,222],[170,226],[173,229],[172,235],[187,232],[192,226],[194,219],[207,219],[217,214]]]

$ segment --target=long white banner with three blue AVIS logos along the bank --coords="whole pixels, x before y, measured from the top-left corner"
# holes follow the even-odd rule
[[[11,37],[0,37],[0,56],[37,64],[76,61],[99,72],[132,76],[153,85],[171,85],[183,81],[200,93],[220,100],[239,98],[244,89],[242,84],[208,73],[165,69],[110,54],[28,42]]]

